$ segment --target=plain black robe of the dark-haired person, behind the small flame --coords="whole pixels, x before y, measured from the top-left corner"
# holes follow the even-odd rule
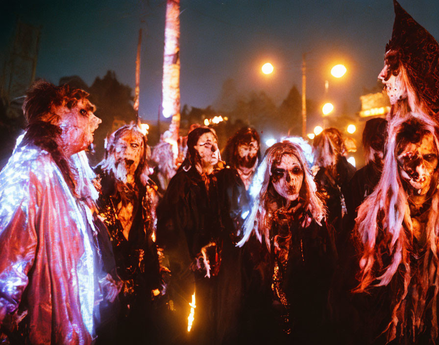
[[[226,344],[237,333],[241,291],[241,249],[235,247],[240,217],[245,212],[245,187],[234,169],[208,178],[195,167],[180,169],[157,208],[157,243],[169,259],[168,294],[175,312],[169,342]],[[209,251],[211,277],[196,269],[203,246]],[[213,249],[212,251],[212,248]],[[195,291],[195,321],[186,333],[189,302]]]

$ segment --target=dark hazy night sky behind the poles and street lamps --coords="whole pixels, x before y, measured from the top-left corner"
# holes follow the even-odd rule
[[[5,1],[3,1],[5,2]],[[0,51],[16,18],[42,25],[36,76],[58,83],[78,75],[88,85],[107,70],[134,89],[138,31],[143,28],[140,115],[155,121],[161,99],[165,0],[8,1],[0,11]],[[439,38],[439,1],[401,0]],[[376,85],[391,36],[391,0],[181,0],[181,105],[215,103],[223,81],[265,91],[278,105],[296,84],[307,53],[307,98],[322,100],[324,80],[336,109],[360,110],[363,88]],[[275,73],[260,72],[271,62]],[[330,67],[348,73],[333,78]]]

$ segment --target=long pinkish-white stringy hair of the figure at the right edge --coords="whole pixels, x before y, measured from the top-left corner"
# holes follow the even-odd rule
[[[358,209],[356,219],[355,236],[360,245],[360,284],[355,292],[364,292],[372,286],[386,286],[395,276],[402,279],[403,289],[394,292],[394,304],[391,321],[388,325],[388,341],[396,337],[397,326],[399,324],[404,332],[406,297],[409,290],[415,292],[410,294],[410,303],[415,305],[414,310],[410,311],[413,336],[423,327],[425,318],[424,306],[427,298],[427,290],[433,287],[433,316],[432,316],[432,338],[436,339],[438,326],[436,320],[436,303],[439,289],[438,278],[438,232],[439,232],[439,193],[437,189],[432,190],[431,207],[428,215],[428,222],[424,227],[427,236],[426,259],[422,264],[421,276],[414,277],[411,271],[411,244],[413,238],[412,219],[408,203],[408,194],[403,188],[398,171],[397,152],[398,143],[396,142],[398,133],[403,129],[403,125],[415,124],[423,132],[431,133],[434,137],[436,148],[439,148],[438,137],[435,132],[436,123],[434,120],[423,113],[406,112],[407,107],[399,107],[398,113],[393,114],[388,127],[388,141],[386,144],[387,153],[384,159],[384,167],[381,179],[373,191],[366,198]],[[407,123],[407,121],[411,121]],[[439,150],[438,150],[439,151]],[[438,174],[436,171],[435,174]],[[433,178],[437,183],[437,176]],[[421,225],[422,226],[422,225]],[[389,264],[383,263],[383,257],[389,256]],[[395,274],[397,273],[398,274]],[[412,282],[411,282],[412,280]],[[420,281],[421,283],[418,283]]]

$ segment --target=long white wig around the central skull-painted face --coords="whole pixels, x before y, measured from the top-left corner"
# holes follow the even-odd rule
[[[275,210],[272,209],[273,197],[270,196],[268,188],[271,184],[271,167],[273,164],[280,164],[284,154],[293,154],[300,162],[303,170],[302,187],[300,188],[299,197],[302,202],[304,212],[309,212],[312,219],[320,223],[325,216],[325,207],[317,196],[316,183],[313,175],[308,168],[305,156],[298,144],[290,141],[276,143],[267,149],[265,157],[258,168],[250,186],[250,195],[253,199],[250,214],[244,222],[244,236],[237,246],[243,246],[248,241],[250,235],[254,232],[259,242],[265,240],[270,249],[269,231],[271,228],[272,216]],[[280,196],[277,196],[281,198]],[[289,207],[287,202],[286,208]]]

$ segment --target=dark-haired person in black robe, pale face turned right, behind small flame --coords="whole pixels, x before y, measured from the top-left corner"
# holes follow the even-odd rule
[[[244,194],[245,188],[236,171],[221,165],[215,132],[208,127],[192,130],[186,158],[157,208],[157,243],[170,262],[168,296],[175,309],[172,323],[177,326],[170,342],[189,336],[195,344],[222,343],[230,339],[227,322],[236,319],[237,307],[226,307],[238,303],[240,297],[236,293],[240,281],[235,279],[239,262],[231,264],[236,257],[232,242],[236,228],[229,200],[235,199],[236,184],[240,183]],[[231,286],[235,284],[230,284],[230,277],[237,286]],[[188,333],[188,303],[194,292],[195,320]]]

